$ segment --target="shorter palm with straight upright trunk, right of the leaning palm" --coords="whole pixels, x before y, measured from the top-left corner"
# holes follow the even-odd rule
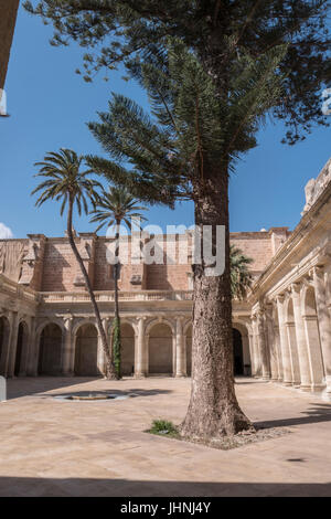
[[[115,318],[113,327],[113,354],[116,373],[120,377],[120,318],[118,305],[118,278],[119,278],[119,231],[124,222],[131,230],[131,219],[146,220],[139,211],[147,208],[137,205],[137,200],[125,189],[109,187],[108,191],[104,191],[96,202],[93,211],[94,216],[92,223],[99,223],[96,229],[98,232],[104,225],[111,227],[115,225],[115,262],[114,262],[114,284],[115,284]]]

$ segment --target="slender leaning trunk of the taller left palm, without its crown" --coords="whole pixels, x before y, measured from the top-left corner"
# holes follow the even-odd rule
[[[93,309],[94,309],[98,332],[99,332],[99,336],[102,338],[103,349],[104,349],[105,357],[106,357],[106,373],[105,373],[105,375],[108,380],[117,380],[118,377],[116,374],[116,371],[115,371],[115,368],[114,368],[114,364],[113,364],[113,361],[111,361],[111,356],[110,356],[110,351],[109,351],[109,348],[108,348],[108,345],[107,345],[107,337],[106,337],[106,332],[105,332],[105,329],[104,329],[104,326],[103,326],[103,322],[102,322],[100,313],[99,313],[99,309],[98,309],[98,306],[97,306],[97,303],[96,303],[96,299],[95,299],[95,295],[94,295],[94,292],[93,292],[93,288],[92,288],[92,285],[90,285],[88,274],[86,272],[85,265],[84,265],[83,260],[81,257],[81,254],[79,254],[79,252],[76,247],[75,240],[74,240],[74,236],[73,236],[73,206],[74,206],[74,200],[70,200],[68,213],[67,213],[67,236],[68,236],[68,241],[70,241],[71,247],[74,252],[74,255],[75,255],[75,257],[76,257],[76,260],[79,264],[79,267],[81,267],[84,280],[85,280],[85,285],[86,285],[86,288],[87,288],[87,292],[88,292],[88,295],[89,295],[89,298],[90,298],[90,301],[92,301],[92,306],[93,306]]]

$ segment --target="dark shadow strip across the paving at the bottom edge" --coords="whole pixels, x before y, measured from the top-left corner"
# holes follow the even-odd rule
[[[0,477],[1,497],[330,497],[331,484]]]

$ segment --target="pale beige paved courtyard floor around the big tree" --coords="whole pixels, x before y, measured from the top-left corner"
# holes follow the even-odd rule
[[[68,392],[134,392],[74,402]],[[15,379],[0,404],[0,496],[331,496],[331,405],[319,396],[239,379],[255,423],[291,434],[216,451],[143,433],[180,423],[190,380]]]

